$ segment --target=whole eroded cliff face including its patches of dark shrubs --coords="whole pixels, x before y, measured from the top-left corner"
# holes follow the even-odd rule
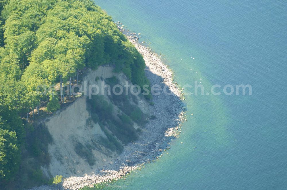
[[[113,73],[112,66],[89,70],[84,83],[86,87],[80,90],[86,90],[86,94],[39,123],[53,139],[48,145],[51,161],[42,167],[47,177],[93,174],[112,164],[149,120],[149,103],[130,91],[126,95],[124,85],[132,84],[123,73]],[[111,85],[111,91],[115,84],[123,86],[123,94],[109,94],[107,87],[102,88],[106,84]],[[97,90],[95,85],[98,95],[92,95]]]

